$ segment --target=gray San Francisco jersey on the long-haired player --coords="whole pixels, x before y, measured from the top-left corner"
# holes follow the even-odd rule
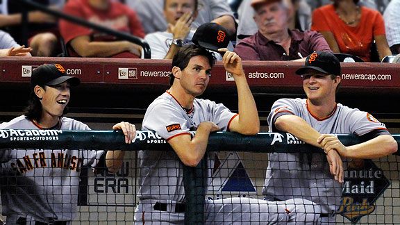
[[[24,115],[1,124],[3,129],[38,130],[15,133],[25,138],[57,140],[56,130],[42,130]],[[39,131],[40,130],[40,131]],[[88,125],[60,118],[60,130],[90,130]],[[3,215],[71,221],[78,203],[79,174],[83,165],[97,165],[104,151],[83,149],[1,149],[1,202]],[[7,223],[10,221],[7,220]],[[14,224],[15,222],[10,222]]]

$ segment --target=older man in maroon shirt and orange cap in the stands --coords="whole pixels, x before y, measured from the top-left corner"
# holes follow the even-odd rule
[[[290,30],[291,6],[284,0],[252,0],[258,32],[236,44],[242,60],[305,60],[313,51],[331,51],[315,31]]]

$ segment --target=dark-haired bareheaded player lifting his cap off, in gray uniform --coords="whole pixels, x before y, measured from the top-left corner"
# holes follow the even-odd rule
[[[255,135],[260,129],[256,103],[240,57],[227,49],[219,51],[225,51],[222,62],[226,72],[235,78],[239,113],[231,113],[221,103],[197,99],[207,88],[215,58],[203,47],[182,47],[172,60],[171,88],[150,104],[142,123],[143,131],[156,131],[174,151],[140,152],[140,202],[135,210],[138,224],[183,224],[186,207],[183,165],[194,167],[200,162],[206,154],[208,136],[214,131]],[[196,134],[192,136],[190,131]],[[210,178],[213,160],[208,156],[206,160]],[[277,203],[239,197],[205,199],[204,221],[206,224],[267,224],[318,219],[319,215],[314,213],[318,207],[300,199],[303,208],[296,208],[297,200]]]

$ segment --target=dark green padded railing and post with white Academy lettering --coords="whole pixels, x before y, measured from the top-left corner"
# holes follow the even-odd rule
[[[33,131],[33,132],[32,132]],[[165,151],[171,147],[162,141],[160,136],[152,131],[137,131],[135,142],[124,143],[124,135],[117,131],[38,131],[38,130],[0,130],[0,149],[22,148],[22,149],[53,149],[63,146],[65,149],[121,149],[124,151]],[[26,135],[26,133],[30,135]],[[56,140],[45,140],[47,133],[57,136]],[[152,133],[153,135],[147,135]],[[194,132],[193,132],[194,134]],[[276,141],[277,135],[281,141]],[[15,139],[19,137],[18,139]],[[24,138],[25,137],[25,138]],[[400,134],[394,134],[397,144],[400,144]],[[33,138],[33,140],[32,140]],[[216,132],[210,135],[207,151],[221,151],[231,149],[232,151],[246,152],[297,152],[318,153],[322,151],[309,144],[288,144],[293,136],[287,133],[258,133],[258,135],[245,136],[231,132]],[[345,145],[358,144],[360,138],[356,135],[338,135],[340,141]],[[395,153],[400,156],[399,151]],[[204,208],[206,199],[205,164],[199,163],[197,167],[184,167],[184,184],[186,195],[185,224],[203,224]]]

